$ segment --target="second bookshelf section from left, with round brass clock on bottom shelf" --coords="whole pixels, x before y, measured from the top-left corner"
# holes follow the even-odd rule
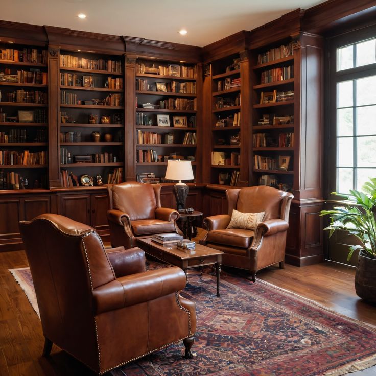
[[[60,51],[59,60],[61,185],[124,181],[122,57]]]

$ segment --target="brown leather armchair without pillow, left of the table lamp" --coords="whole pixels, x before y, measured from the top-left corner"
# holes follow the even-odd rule
[[[179,232],[179,212],[161,207],[160,184],[135,181],[107,185],[110,209],[107,211],[112,247],[131,248],[137,238],[156,233]]]

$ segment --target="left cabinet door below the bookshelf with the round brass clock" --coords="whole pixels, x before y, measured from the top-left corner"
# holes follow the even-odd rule
[[[90,225],[91,208],[90,194],[64,194],[60,195],[58,202],[58,212],[62,216],[73,219],[74,221]]]

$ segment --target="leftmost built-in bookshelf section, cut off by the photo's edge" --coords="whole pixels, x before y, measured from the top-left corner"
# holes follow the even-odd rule
[[[0,43],[0,190],[48,187],[46,59],[45,49]]]

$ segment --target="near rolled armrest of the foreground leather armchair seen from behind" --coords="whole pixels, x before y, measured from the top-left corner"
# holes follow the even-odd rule
[[[147,302],[184,289],[186,276],[177,266],[116,278],[92,290],[95,314]]]

